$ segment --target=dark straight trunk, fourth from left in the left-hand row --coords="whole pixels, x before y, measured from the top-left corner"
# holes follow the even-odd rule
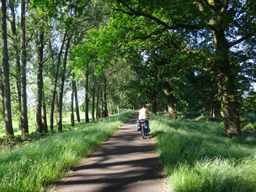
[[[36,97],[36,132],[43,134],[42,125],[42,90],[43,90],[43,54],[44,32],[41,31],[38,41],[37,97]]]

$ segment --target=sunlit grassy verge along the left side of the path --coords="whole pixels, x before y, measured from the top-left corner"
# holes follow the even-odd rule
[[[92,154],[131,116],[109,116],[74,130],[47,136],[12,150],[0,151],[0,191],[45,191]]]

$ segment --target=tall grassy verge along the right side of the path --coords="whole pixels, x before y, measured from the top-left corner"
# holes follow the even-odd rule
[[[218,122],[154,115],[150,127],[174,191],[256,191],[254,132],[227,140]]]

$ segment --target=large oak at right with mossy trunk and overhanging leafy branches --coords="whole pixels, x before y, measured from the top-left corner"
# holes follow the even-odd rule
[[[186,3],[161,1],[157,6],[152,1],[143,1],[143,4],[140,1],[125,1],[124,3],[124,1],[116,0],[115,2],[117,2],[115,10],[123,14],[114,13],[113,19],[125,20],[126,23],[133,24],[137,30],[131,31],[131,28],[127,26],[122,28],[129,29],[130,32],[127,33],[131,34],[128,40],[126,38],[122,42],[145,40],[159,35],[159,39],[162,40],[152,42],[155,46],[157,43],[164,44],[167,47],[187,52],[187,54],[200,53],[208,57],[208,61],[202,65],[208,70],[211,68],[217,77],[225,136],[231,138],[240,135],[234,76],[229,55],[231,47],[255,35],[255,24],[253,24],[255,17],[253,6],[255,5],[251,1],[238,3],[237,1],[217,0]],[[241,15],[242,12],[246,14]],[[142,26],[143,29],[147,26],[148,30],[142,31]],[[185,42],[188,44],[184,44]],[[204,52],[200,50],[202,48],[205,49]]]

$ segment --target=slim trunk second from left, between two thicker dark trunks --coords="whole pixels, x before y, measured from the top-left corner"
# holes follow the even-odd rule
[[[20,113],[20,120],[21,120],[22,113],[21,113],[21,92],[20,92],[20,56],[19,56],[19,49],[18,49],[19,40],[17,38],[14,4],[15,4],[15,0],[11,0],[10,10],[12,13],[11,26],[12,26],[12,35],[13,35],[12,39],[13,39],[13,51],[14,51],[14,62],[15,62],[15,72],[16,72],[15,78],[16,78],[16,86],[17,86],[17,93],[18,93],[18,99],[19,99],[19,113]],[[19,120],[19,129],[22,130],[20,120]]]

